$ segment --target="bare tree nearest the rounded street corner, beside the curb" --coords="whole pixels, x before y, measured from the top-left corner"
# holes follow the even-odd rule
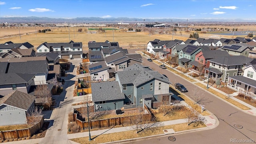
[[[196,110],[194,110],[193,108],[188,108],[185,111],[186,114],[186,119],[188,121],[188,125],[192,124],[193,122],[198,122],[198,121],[202,121],[205,122],[206,119],[199,114],[199,112],[197,112]]]

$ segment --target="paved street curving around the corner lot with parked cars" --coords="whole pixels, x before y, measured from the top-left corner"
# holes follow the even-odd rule
[[[129,53],[135,50],[128,50]],[[180,76],[173,74],[172,72],[159,68],[158,65],[153,62],[148,62],[146,58],[143,58],[143,65],[150,66],[154,70],[157,70],[161,74],[165,74],[170,81],[174,84],[175,82],[180,82],[188,89],[185,94],[190,96],[192,90],[197,86],[184,80]],[[176,138],[175,141],[168,140],[168,136],[151,138],[143,141],[128,142],[133,144],[227,144],[230,143],[230,139],[237,140],[254,140],[256,143],[256,117],[242,112],[242,110],[231,106],[227,102],[216,98],[214,95],[204,92],[204,96],[209,98],[212,102],[205,104],[205,108],[215,114],[218,117],[220,123],[217,128],[212,130],[205,130],[199,132],[185,133],[185,134],[174,134]],[[242,127],[236,128],[236,124]]]

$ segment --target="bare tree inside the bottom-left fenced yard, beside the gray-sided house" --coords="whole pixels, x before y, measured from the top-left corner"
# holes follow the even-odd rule
[[[42,110],[43,110],[42,108],[37,108],[37,106],[32,108],[30,113],[27,113],[28,124],[38,123],[43,116]]]

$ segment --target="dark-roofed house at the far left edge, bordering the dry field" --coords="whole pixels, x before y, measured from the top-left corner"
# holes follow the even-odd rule
[[[14,44],[13,42],[10,41],[10,42],[6,42],[4,44],[0,44],[0,53],[8,52],[8,50],[11,50],[13,48],[20,48],[20,49],[32,48],[32,49],[34,49],[34,46],[32,44],[30,44],[29,42]]]

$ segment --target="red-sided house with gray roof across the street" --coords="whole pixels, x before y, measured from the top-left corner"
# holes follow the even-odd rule
[[[230,56],[227,51],[223,50],[202,50],[195,55],[195,60],[188,62],[194,72],[202,74],[205,67],[210,66],[208,60],[223,56]],[[198,72],[200,70],[201,72]]]

